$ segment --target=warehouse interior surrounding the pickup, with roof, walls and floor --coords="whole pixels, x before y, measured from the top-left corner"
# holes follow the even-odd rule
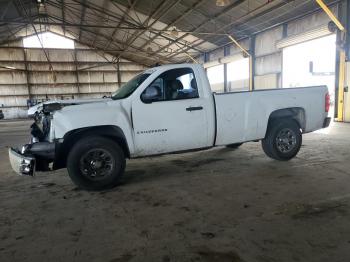
[[[349,0],[1,1],[0,261],[347,261],[349,31]],[[326,85],[331,125],[290,162],[256,142],[132,159],[102,192],[13,173],[29,107],[179,63],[216,93]]]

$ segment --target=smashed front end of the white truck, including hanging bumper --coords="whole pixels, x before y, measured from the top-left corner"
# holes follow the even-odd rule
[[[30,143],[21,149],[9,149],[10,163],[17,174],[34,176],[35,171],[50,170],[56,147],[52,128],[53,112],[60,109],[59,103],[43,105],[42,110],[33,115]]]

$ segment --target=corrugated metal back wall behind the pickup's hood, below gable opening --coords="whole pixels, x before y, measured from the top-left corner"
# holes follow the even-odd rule
[[[144,66],[120,60],[76,43],[76,49],[22,47],[22,41],[0,46],[0,109],[5,118],[25,117],[27,100],[109,96]]]

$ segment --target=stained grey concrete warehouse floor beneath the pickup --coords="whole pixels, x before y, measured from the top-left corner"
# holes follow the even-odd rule
[[[0,122],[0,261],[349,261],[350,125],[304,136],[294,160],[240,149],[128,161],[123,185],[77,190],[66,170],[19,177]]]

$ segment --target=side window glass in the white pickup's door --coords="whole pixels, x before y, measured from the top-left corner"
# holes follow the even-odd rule
[[[190,68],[171,69],[162,73],[141,94],[144,103],[198,97],[197,82]]]

